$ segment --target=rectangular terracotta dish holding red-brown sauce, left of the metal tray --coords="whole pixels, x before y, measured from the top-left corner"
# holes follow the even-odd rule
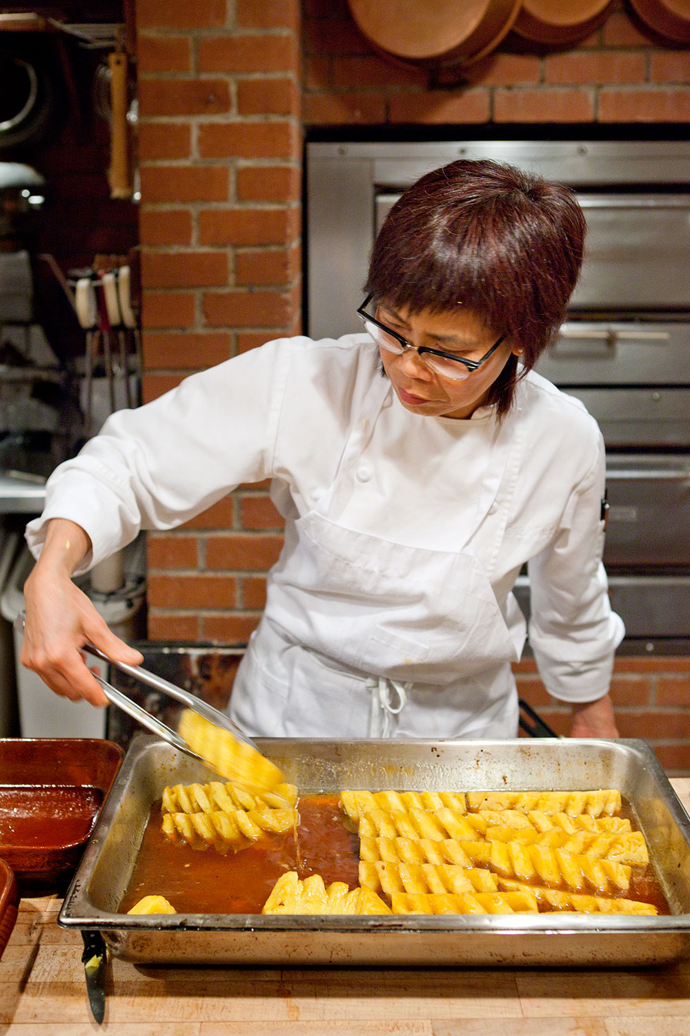
[[[122,756],[99,739],[0,740],[0,855],[22,895],[66,888]]]

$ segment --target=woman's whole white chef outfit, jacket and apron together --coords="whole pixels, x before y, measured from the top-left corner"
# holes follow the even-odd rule
[[[534,373],[502,422],[407,411],[367,336],[269,343],[120,411],[27,528],[82,525],[91,564],[271,479],[286,543],[232,696],[252,735],[513,737],[524,622],[548,690],[606,693],[621,620],[601,566],[601,434]]]

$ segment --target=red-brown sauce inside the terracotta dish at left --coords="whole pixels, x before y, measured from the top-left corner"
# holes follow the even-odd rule
[[[3,845],[53,848],[84,841],[102,801],[95,787],[0,785],[0,856]]]

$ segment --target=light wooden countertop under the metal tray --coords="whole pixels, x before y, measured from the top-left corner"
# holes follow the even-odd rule
[[[671,781],[690,811],[690,778]],[[109,958],[102,1026],[61,900],[23,899],[0,1036],[688,1036],[690,959],[655,969],[144,968]]]

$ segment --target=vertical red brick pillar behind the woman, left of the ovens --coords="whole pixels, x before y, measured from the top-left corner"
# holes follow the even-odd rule
[[[296,0],[139,0],[144,396],[299,330]],[[149,635],[247,639],[280,520],[245,487],[149,538]]]

